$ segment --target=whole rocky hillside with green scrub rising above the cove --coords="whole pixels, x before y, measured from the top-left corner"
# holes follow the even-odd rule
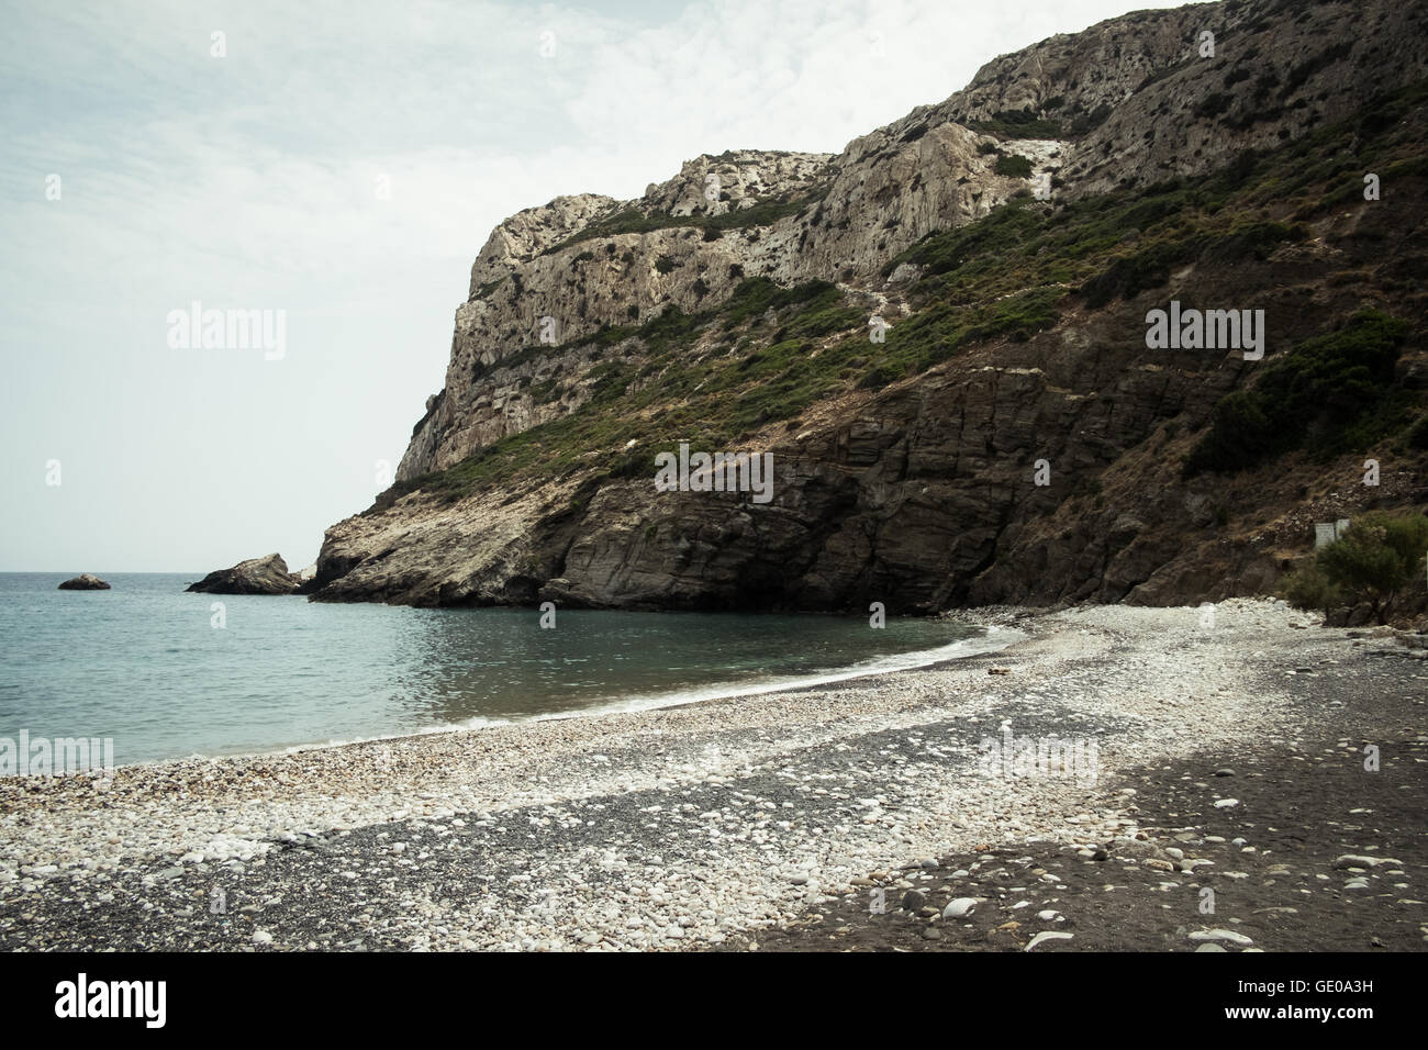
[[[1428,499],[1425,30],[1387,0],[1140,11],[837,156],[705,156],[635,201],[513,216],[316,597],[927,611],[1268,587],[1314,520]],[[1264,359],[1148,350],[1172,299],[1265,310]],[[1322,389],[1267,424],[1285,440],[1235,430],[1288,373]],[[657,491],[681,440],[771,451],[773,500]]]

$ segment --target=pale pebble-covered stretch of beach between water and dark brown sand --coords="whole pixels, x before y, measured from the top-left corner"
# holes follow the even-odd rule
[[[1010,649],[834,686],[0,784],[0,947],[751,944],[912,861],[1117,841],[1122,771],[1302,736],[1331,671],[1428,693],[1382,633],[1217,609],[1211,631],[1195,609],[998,610]],[[1095,740],[1098,776],[978,776],[1005,723]]]

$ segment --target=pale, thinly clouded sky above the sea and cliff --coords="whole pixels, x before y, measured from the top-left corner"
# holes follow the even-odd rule
[[[838,151],[1148,6],[0,0],[0,571],[301,569],[386,487],[506,216]],[[206,346],[194,303],[274,339]]]

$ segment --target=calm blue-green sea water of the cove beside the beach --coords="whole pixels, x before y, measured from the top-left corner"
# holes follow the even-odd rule
[[[113,737],[119,764],[661,706],[985,647],[925,620],[564,610],[541,630],[536,610],[186,594],[201,573],[56,590],[74,574],[0,573],[0,737]]]

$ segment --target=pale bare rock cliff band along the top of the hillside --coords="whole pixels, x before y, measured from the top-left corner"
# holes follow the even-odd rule
[[[526,373],[493,380],[497,361],[671,307],[708,309],[745,277],[875,284],[898,251],[987,216],[1042,174],[1071,200],[1215,170],[1422,77],[1425,30],[1421,6],[1388,0],[1311,14],[1285,3],[1137,11],[990,61],[944,103],[837,156],[733,150],[687,161],[640,200],[581,194],[527,209],[471,267],[446,386],[397,479],[580,407],[541,400],[520,384]],[[1201,57],[1202,33],[1214,34],[1212,56]],[[1031,157],[1030,176],[998,174],[992,146]],[[678,221],[741,214],[763,219],[714,239]]]

